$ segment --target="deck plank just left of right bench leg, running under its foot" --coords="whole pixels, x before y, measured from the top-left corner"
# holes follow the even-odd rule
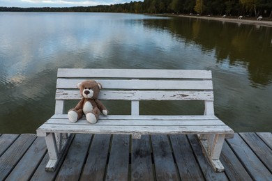
[[[188,139],[190,141],[190,145],[192,146],[192,150],[195,152],[195,156],[197,157],[197,162],[202,169],[204,178],[206,180],[228,180],[224,172],[216,173],[216,171],[213,171],[213,168],[202,153],[202,148],[197,140],[197,136],[189,134]]]

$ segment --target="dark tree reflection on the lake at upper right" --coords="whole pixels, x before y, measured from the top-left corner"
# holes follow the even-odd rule
[[[256,28],[229,22],[220,24],[190,18],[152,20],[149,26],[168,26],[175,36],[180,36],[189,44],[199,45],[202,53],[213,52],[220,65],[227,64],[230,69],[241,67],[247,70],[252,86],[266,86],[271,83],[272,31],[269,27]]]

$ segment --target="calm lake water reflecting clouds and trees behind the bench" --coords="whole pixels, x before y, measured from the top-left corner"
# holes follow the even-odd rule
[[[0,13],[0,133],[34,133],[54,114],[57,68],[212,70],[216,116],[236,132],[271,132],[271,39],[269,27],[186,17]]]

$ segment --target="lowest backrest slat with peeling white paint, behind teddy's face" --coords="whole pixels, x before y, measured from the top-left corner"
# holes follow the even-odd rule
[[[56,90],[56,100],[80,100],[79,91]],[[212,91],[100,91],[100,100],[209,100]]]

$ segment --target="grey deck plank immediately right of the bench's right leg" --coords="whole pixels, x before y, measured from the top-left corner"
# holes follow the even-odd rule
[[[225,167],[225,173],[229,180],[252,180],[232,149],[229,148],[227,142],[223,144],[220,161]]]

